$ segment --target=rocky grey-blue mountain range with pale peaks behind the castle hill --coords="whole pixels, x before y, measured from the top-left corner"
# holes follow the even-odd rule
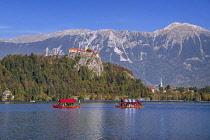
[[[0,58],[7,54],[67,54],[69,48],[90,48],[104,62],[133,71],[146,85],[210,84],[210,31],[189,23],[172,23],[155,32],[70,29],[51,34],[0,40]]]

